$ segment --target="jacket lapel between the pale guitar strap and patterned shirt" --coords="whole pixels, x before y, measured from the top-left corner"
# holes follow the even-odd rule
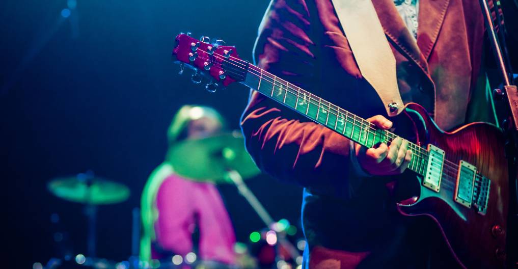
[[[419,1],[419,4],[421,5],[421,1],[423,0]],[[380,19],[381,26],[385,31],[385,34],[389,36],[389,38],[397,45],[397,47],[399,47],[400,53],[406,55],[410,60],[413,60],[413,62],[418,65],[425,74],[428,75],[428,64],[426,63],[426,58],[424,58],[423,54],[421,53],[418,44],[415,43],[415,39],[412,37],[412,34],[410,34],[410,31],[408,31],[405,22],[403,19],[401,19],[401,15],[399,15],[399,12],[394,5],[394,1],[372,0],[372,4],[376,8],[376,12],[378,13],[378,17]],[[418,18],[422,18],[421,12],[418,16]],[[419,22],[421,22],[421,19]]]

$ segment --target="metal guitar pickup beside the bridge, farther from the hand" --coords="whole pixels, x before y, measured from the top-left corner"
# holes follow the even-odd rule
[[[473,187],[475,176],[477,175],[477,167],[465,161],[459,162],[457,172],[457,182],[455,184],[455,202],[471,208],[473,200]]]

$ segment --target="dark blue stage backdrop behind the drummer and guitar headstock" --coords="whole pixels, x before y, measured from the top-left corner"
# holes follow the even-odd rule
[[[0,3],[0,152],[3,246],[9,263],[31,267],[56,255],[53,233],[69,234],[74,253],[85,251],[79,204],[52,196],[53,177],[92,169],[125,183],[127,202],[100,207],[98,256],[123,260],[131,251],[131,210],[164,157],[165,131],[183,104],[210,105],[232,128],[248,89],[214,94],[179,76],[170,52],[179,32],[235,45],[251,60],[257,27],[269,1],[78,0],[68,18],[66,0]],[[299,225],[300,188],[262,175],[249,181],[275,219]],[[235,187],[222,186],[238,239],[262,224]],[[50,215],[61,217],[51,225]],[[298,234],[301,236],[301,234]]]

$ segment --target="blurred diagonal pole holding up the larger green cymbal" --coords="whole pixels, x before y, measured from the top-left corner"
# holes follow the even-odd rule
[[[257,200],[257,197],[255,197],[255,195],[252,193],[252,191],[244,183],[241,175],[235,170],[229,170],[227,173],[227,176],[229,179],[232,180],[232,182],[234,182],[234,185],[236,185],[239,193],[244,197],[244,199],[246,199],[248,201],[248,203],[255,210],[255,213],[257,213],[257,215],[259,215],[259,217],[261,218],[261,220],[263,220],[263,222],[266,224],[266,226],[269,229],[271,229],[275,224],[274,219],[271,218],[270,214],[268,214],[268,212],[266,211],[264,206],[261,204],[261,202],[259,202],[259,200]],[[293,259],[300,256],[299,252],[293,246],[293,244],[286,239],[286,235],[284,233],[279,233],[277,231],[275,231],[275,232],[277,233],[277,241],[287,251],[290,252],[290,255],[292,256]]]

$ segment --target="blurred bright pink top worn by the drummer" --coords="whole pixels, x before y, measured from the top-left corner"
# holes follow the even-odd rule
[[[212,183],[170,175],[156,194],[156,243],[166,251],[193,251],[192,232],[199,229],[198,257],[204,261],[234,264],[236,236],[218,189]],[[157,253],[153,251],[153,258]]]

